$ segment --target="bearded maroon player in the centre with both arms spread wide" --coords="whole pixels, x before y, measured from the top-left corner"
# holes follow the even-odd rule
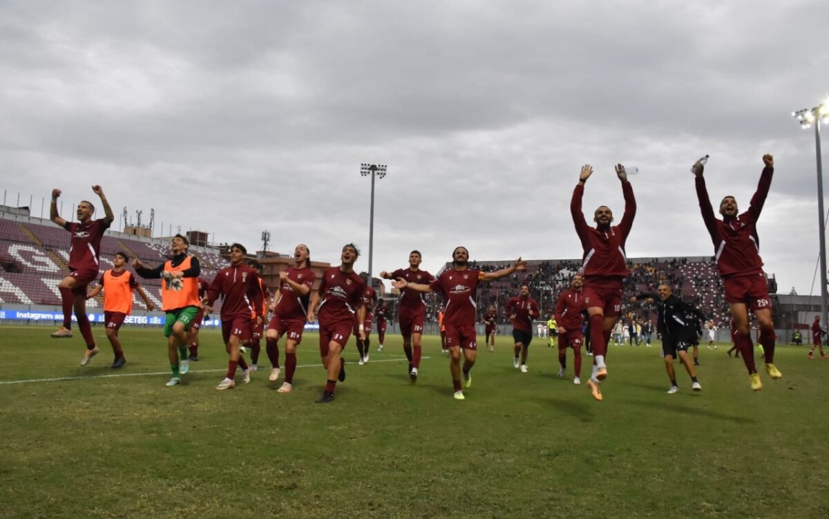
[[[526,261],[521,258],[507,269],[495,272],[482,272],[468,268],[469,251],[466,247],[457,247],[452,253],[452,269],[444,270],[438,279],[429,284],[410,283],[400,277],[391,284],[395,289],[409,289],[417,293],[436,292],[444,297],[444,325],[446,326],[446,347],[449,349],[449,370],[452,372],[454,398],[464,400],[461,373],[465,386],[472,386],[470,370],[475,365],[477,351],[475,322],[478,312],[475,308],[475,296],[478,284],[482,281],[501,279],[516,270],[526,269]],[[463,350],[463,370],[460,365]]]

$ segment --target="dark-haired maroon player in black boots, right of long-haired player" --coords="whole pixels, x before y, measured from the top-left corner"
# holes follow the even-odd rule
[[[357,335],[366,338],[362,323],[366,320],[366,307],[363,305],[363,291],[366,285],[354,272],[354,262],[360,256],[356,245],[350,243],[342,248],[340,266],[326,269],[320,279],[317,292],[311,296],[308,307],[308,323],[319,318],[319,353],[322,366],[328,377],[318,404],[327,404],[334,400],[334,390],[338,381],[346,380],[346,361],[340,357],[342,348],[348,343],[354,316],[359,323]]]

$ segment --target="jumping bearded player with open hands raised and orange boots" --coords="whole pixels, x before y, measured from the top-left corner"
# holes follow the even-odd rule
[[[579,183],[570,201],[570,214],[584,250],[581,266],[584,303],[589,315],[590,344],[594,353],[593,374],[587,384],[593,397],[602,400],[599,385],[608,376],[604,357],[607,355],[610,331],[622,309],[622,283],[628,277],[625,243],[636,216],[636,199],[624,166],[617,164],[616,176],[622,182],[625,201],[622,221],[618,226],[611,226],[613,212],[608,206],[599,206],[593,216],[596,226],[589,227],[581,210],[581,199],[584,196],[584,184],[592,174],[593,167],[589,164],[581,168]]]

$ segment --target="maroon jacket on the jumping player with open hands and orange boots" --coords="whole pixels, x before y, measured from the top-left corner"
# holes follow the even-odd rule
[[[633,198],[633,187],[630,182],[622,182],[624,195],[624,214],[618,226],[608,226],[607,229],[590,227],[584,220],[581,211],[581,197],[584,195],[584,186],[576,184],[573,191],[573,200],[570,201],[570,213],[573,215],[575,231],[579,234],[584,255],[582,255],[582,270],[584,283],[589,284],[591,278],[604,278],[618,281],[628,277],[628,263],[625,257],[624,245],[628,240],[633,217],[636,216],[636,199]]]

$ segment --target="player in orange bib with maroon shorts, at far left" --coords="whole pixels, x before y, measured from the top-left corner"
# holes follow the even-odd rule
[[[138,281],[135,280],[133,273],[126,269],[128,261],[127,253],[116,252],[112,260],[114,267],[109,270],[104,270],[104,275],[101,276],[98,286],[95,287],[87,299],[94,298],[96,295],[104,291],[104,327],[106,327],[106,338],[109,339],[109,344],[112,345],[112,352],[115,354],[115,359],[112,361],[112,368],[123,367],[127,363],[124,357],[124,348],[121,347],[121,340],[118,337],[118,331],[121,325],[124,324],[124,319],[133,312],[133,290],[138,291],[138,295],[144,300],[147,311],[152,312],[155,305],[147,297]]]

